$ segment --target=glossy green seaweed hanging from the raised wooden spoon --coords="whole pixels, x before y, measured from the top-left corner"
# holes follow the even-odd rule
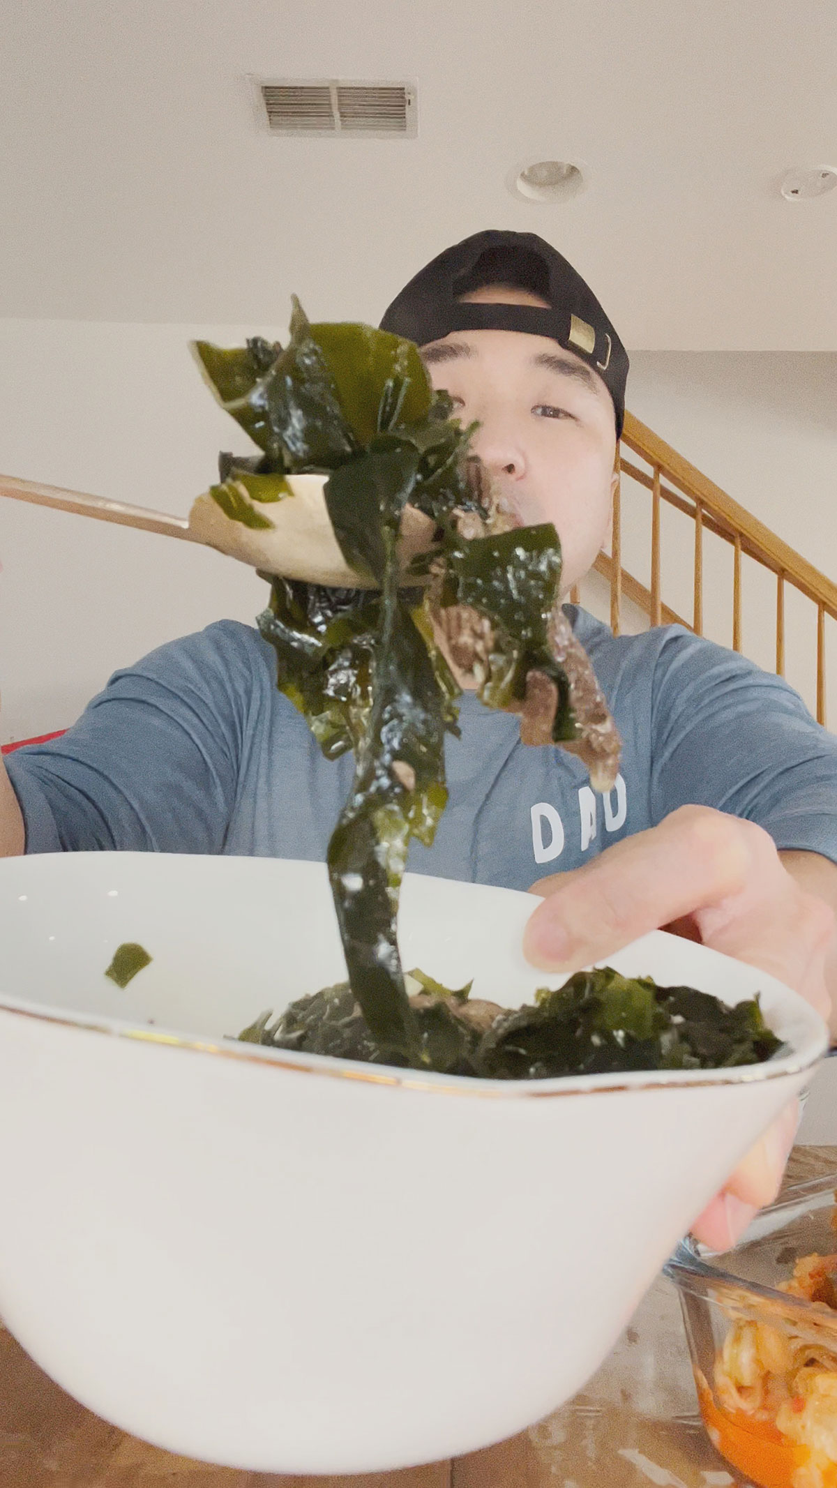
[[[434,641],[422,580],[440,565],[440,603],[468,604],[491,622],[482,701],[519,705],[526,674],[538,668],[558,686],[553,738],[571,740],[568,682],[547,644],[560,580],[558,534],[543,525],[459,536],[455,513],[479,509],[467,473],[476,426],[452,417],[450,399],[433,390],[412,342],[369,326],[309,324],[294,299],[287,347],[253,338],[244,348],[198,342],[195,351],[220,405],[260,451],[220,457],[210,493],[220,509],[232,521],[269,527],[271,503],[293,500],[288,475],[326,473],[340,551],[358,576],[378,583],[376,591],[327,591],[274,577],[257,625],[277,655],[279,689],[324,754],[355,754],[327,865],[367,1030],[395,1062],[427,1065],[453,1034],[462,1059],[449,1009],[425,1009],[421,1024],[395,939],[407,845],[410,838],[433,842],[447,799],[445,734],[458,731],[459,687]],[[415,589],[401,586],[397,552],[407,504],[431,519],[428,551],[413,564]],[[453,1058],[450,1051],[445,1058]]]

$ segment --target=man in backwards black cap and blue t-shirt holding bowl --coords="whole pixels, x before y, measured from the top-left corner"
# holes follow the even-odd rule
[[[607,537],[627,356],[575,271],[532,235],[486,232],[422,269],[387,311],[522,522],[555,522],[569,591]],[[743,658],[676,628],[615,640],[571,609],[624,740],[599,799],[569,753],[462,699],[450,804],[409,866],[516,888],[558,876],[526,951],[577,969],[659,926],[751,961],[821,1010],[837,991],[837,740]],[[0,777],[0,850],[323,859],[352,760],[327,762],[275,687],[274,655],[222,622],[117,673],[59,741]],[[723,1248],[779,1183],[786,1113],[700,1217]]]

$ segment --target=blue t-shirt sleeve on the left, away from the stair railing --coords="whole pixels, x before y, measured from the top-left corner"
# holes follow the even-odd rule
[[[27,853],[223,850],[260,661],[238,629],[162,646],[61,738],[9,756]]]

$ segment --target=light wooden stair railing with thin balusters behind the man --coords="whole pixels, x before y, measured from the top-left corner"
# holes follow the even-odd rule
[[[648,469],[626,458],[638,455]],[[742,649],[742,555],[755,559],[776,577],[776,671],[785,676],[785,585],[789,583],[816,606],[816,717],[825,723],[825,618],[837,620],[837,585],[827,579],[801,554],[782,542],[684,460],[633,414],[626,414],[621,448],[617,455],[620,479],[614,491],[611,552],[599,554],[595,568],[610,583],[611,628],[618,635],[623,597],[648,616],[651,625],[687,625],[703,634],[703,533],[714,533],[733,549],[733,650]],[[629,476],[651,493],[651,588],[621,565],[621,478]],[[662,600],[660,504],[682,512],[694,522],[693,615],[684,620]],[[578,600],[578,591],[572,591]]]

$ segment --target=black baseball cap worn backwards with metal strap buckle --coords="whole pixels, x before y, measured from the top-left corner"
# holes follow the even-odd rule
[[[535,305],[473,305],[459,296],[483,284],[514,284],[546,299]],[[581,357],[613,397],[615,432],[624,423],[627,353],[592,289],[571,263],[534,232],[476,232],[433,259],[395,296],[382,330],[425,347],[452,330],[523,330],[549,336]]]

